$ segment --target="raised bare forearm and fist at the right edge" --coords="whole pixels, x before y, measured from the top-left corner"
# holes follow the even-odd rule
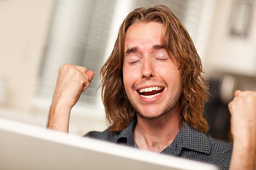
[[[233,154],[230,169],[255,170],[256,160],[256,92],[235,91],[229,104]]]

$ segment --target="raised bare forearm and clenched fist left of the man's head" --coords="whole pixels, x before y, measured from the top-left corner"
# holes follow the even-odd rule
[[[60,67],[47,128],[68,132],[70,111],[81,93],[90,86],[93,76],[94,72],[87,71],[85,67],[72,64]]]

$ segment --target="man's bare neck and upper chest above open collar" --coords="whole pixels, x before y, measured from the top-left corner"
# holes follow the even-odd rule
[[[137,115],[134,140],[140,149],[161,152],[174,141],[182,125],[179,112],[154,119]]]

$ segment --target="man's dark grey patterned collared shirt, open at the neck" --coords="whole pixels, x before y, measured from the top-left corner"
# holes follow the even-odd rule
[[[88,132],[85,136],[137,147],[133,135],[136,123],[137,118],[132,119],[129,126],[119,133],[113,133],[109,130],[104,132],[93,131]],[[214,164],[219,169],[228,169],[232,150],[233,145],[213,140],[209,135],[198,132],[185,122],[174,141],[161,154],[193,159],[199,162]]]

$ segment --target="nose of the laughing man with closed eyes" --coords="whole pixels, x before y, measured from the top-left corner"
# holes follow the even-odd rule
[[[145,58],[142,64],[142,77],[149,79],[155,77],[154,63],[151,59]]]

